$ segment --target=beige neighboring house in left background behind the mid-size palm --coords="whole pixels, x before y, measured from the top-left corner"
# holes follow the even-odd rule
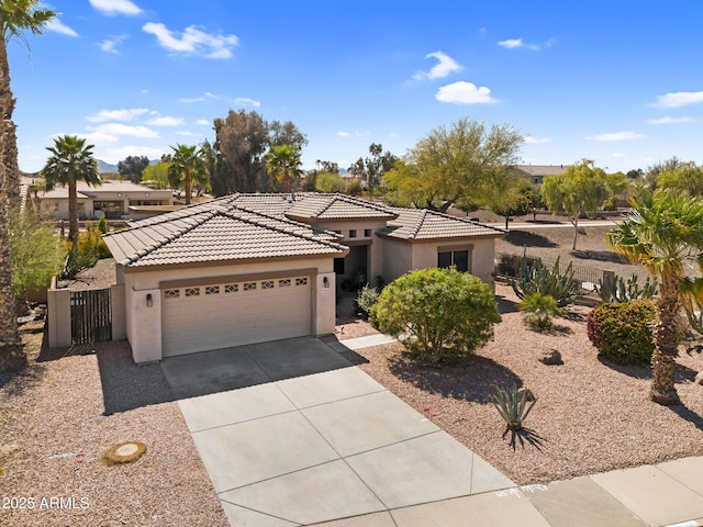
[[[108,220],[127,220],[134,208],[174,205],[171,190],[149,189],[131,181],[104,180],[98,187],[79,181],[76,187],[79,220],[100,220],[103,214]],[[57,184],[54,190],[38,192],[32,198],[38,200],[38,210],[45,216],[68,220],[68,187]]]

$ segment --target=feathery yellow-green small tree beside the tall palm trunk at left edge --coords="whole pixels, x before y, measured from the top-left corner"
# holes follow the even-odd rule
[[[54,223],[35,214],[15,212],[10,228],[12,283],[18,295],[47,287],[64,266],[68,250],[54,235]]]

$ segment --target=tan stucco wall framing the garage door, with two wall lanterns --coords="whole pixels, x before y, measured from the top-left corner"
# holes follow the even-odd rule
[[[335,330],[335,274],[333,259],[309,258],[299,260],[281,260],[270,262],[252,262],[227,266],[209,266],[200,268],[181,268],[125,272],[125,330],[132,346],[135,362],[149,362],[161,359],[161,291],[159,283],[171,280],[212,279],[220,277],[259,274],[265,272],[290,272],[295,270],[316,269],[312,283],[312,332],[315,335],[334,333]],[[324,288],[324,279],[328,288]],[[147,306],[147,295],[152,295],[153,306]],[[276,305],[270,306],[271,313]],[[215,313],[202,313],[203,317],[215,316]]]

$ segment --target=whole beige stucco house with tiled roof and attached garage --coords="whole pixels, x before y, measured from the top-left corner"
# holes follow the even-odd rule
[[[136,362],[335,329],[337,282],[456,265],[493,284],[504,231],[342,194],[233,194],[104,236]],[[120,318],[121,313],[116,314]],[[114,315],[113,315],[114,316]]]

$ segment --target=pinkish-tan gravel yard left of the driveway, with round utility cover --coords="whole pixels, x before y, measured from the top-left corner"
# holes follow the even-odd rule
[[[0,375],[0,525],[228,526],[158,366],[133,365],[126,343],[37,357],[43,335],[32,332],[41,326],[23,328],[31,367]],[[127,440],[146,444],[146,453],[101,463]]]

